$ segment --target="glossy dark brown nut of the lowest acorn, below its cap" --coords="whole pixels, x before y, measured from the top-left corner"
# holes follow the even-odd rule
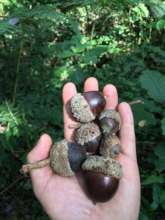
[[[113,197],[119,179],[93,171],[83,171],[83,174],[87,193],[94,202],[106,202]]]

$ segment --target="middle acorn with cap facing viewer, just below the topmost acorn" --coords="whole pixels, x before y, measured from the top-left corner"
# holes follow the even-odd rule
[[[81,124],[81,126],[75,130],[74,139],[78,144],[84,146],[88,153],[94,154],[97,152],[100,144],[100,128],[94,122]]]

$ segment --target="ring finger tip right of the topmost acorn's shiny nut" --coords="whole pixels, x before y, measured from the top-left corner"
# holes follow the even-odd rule
[[[106,97],[106,109],[115,109],[118,105],[118,94],[115,86],[108,84],[103,89],[104,96]]]

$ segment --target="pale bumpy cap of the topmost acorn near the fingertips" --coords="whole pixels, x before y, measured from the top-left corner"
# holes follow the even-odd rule
[[[73,117],[82,123],[87,123],[95,119],[91,108],[83,95],[77,93],[70,101],[71,112]]]

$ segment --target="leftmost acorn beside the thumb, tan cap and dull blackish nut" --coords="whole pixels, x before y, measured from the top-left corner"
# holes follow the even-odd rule
[[[85,148],[65,139],[56,142],[50,152],[50,166],[60,176],[73,176],[85,159]]]

